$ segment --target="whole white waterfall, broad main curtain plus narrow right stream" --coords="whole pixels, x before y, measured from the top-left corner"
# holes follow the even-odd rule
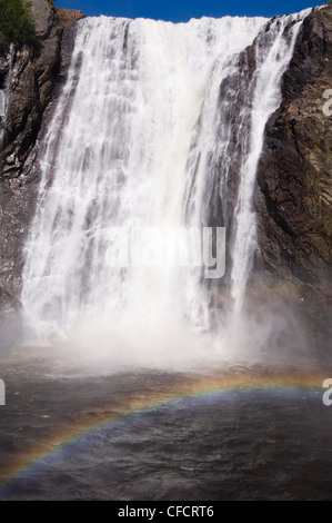
[[[171,358],[201,347],[197,330],[209,330],[211,318],[200,269],[120,269],[107,264],[105,253],[110,229],[134,219],[143,227],[211,225],[217,194],[232,230],[231,296],[241,322],[264,126],[280,102],[300,22],[286,36],[284,28],[303,17],[276,20],[268,32],[260,32],[262,18],[79,22],[68,79],[41,145],[26,246],[22,304],[33,335],[83,330],[88,345],[90,333],[94,345],[137,363],[145,346],[152,347],[147,362],[158,351]],[[239,66],[239,53],[258,36],[251,75]],[[237,131],[229,118],[233,103],[240,103]],[[235,157],[232,218],[225,200]],[[222,351],[219,339],[213,335]]]

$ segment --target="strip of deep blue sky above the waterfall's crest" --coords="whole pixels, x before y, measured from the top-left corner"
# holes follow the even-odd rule
[[[88,16],[154,18],[188,21],[190,18],[288,14],[318,4],[316,0],[56,0],[56,6],[80,9]]]

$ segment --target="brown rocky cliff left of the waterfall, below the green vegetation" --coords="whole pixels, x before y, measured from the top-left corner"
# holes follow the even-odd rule
[[[83,17],[80,11],[54,8],[48,0],[30,3],[40,50],[13,48],[0,56],[0,89],[7,105],[6,117],[0,121],[0,319],[14,318],[19,313],[22,246],[38,181],[33,151],[61,81],[61,41],[69,31],[64,28]]]

